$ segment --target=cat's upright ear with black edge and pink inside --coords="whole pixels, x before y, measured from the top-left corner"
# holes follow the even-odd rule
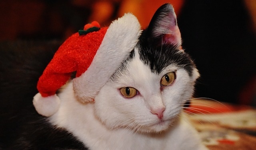
[[[149,44],[173,44],[181,48],[180,30],[171,4],[164,4],[156,10],[146,32]]]

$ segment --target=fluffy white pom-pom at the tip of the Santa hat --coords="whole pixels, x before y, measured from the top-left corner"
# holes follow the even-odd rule
[[[41,94],[38,93],[34,96],[33,105],[38,114],[49,117],[58,111],[60,107],[60,98],[56,94],[42,97]]]

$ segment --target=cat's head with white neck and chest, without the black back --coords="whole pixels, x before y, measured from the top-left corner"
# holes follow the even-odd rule
[[[199,74],[180,50],[173,13],[169,4],[156,12],[157,19],[153,17],[95,102],[78,102],[70,81],[59,94],[60,109],[49,121],[74,134],[90,150],[206,150],[182,115]],[[175,30],[172,38],[164,37],[170,32],[167,27]]]

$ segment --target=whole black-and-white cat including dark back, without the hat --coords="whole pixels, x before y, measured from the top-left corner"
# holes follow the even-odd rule
[[[1,50],[0,150],[207,150],[182,112],[199,73],[181,43],[164,4],[93,102],[76,99],[71,78],[50,117],[32,99],[54,50]]]

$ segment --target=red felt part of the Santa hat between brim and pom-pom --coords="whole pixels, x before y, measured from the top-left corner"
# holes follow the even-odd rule
[[[72,72],[76,71],[76,77],[79,77],[88,69],[107,29],[100,28],[81,36],[75,33],[60,46],[39,78],[37,89],[43,97],[54,95],[66,84]]]

